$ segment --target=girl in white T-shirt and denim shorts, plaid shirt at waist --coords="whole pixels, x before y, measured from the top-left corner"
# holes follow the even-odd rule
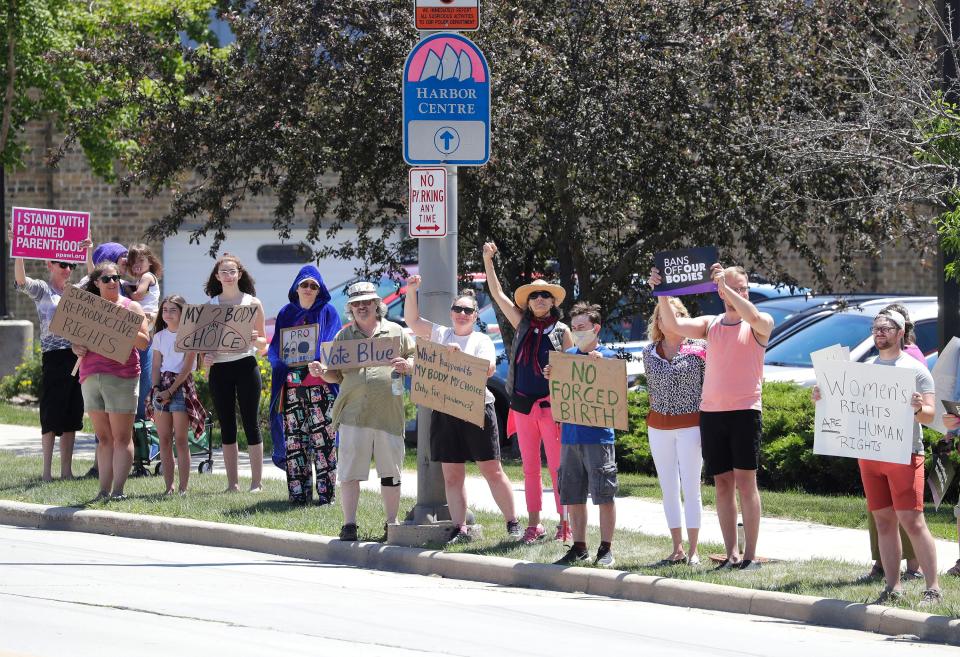
[[[163,465],[163,481],[167,486],[167,495],[173,493],[174,438],[177,443],[178,491],[184,495],[190,482],[191,467],[187,432],[193,429],[195,435],[202,434],[207,418],[207,412],[200,403],[196,386],[193,384],[197,353],[183,353],[174,349],[180,315],[185,305],[186,299],[179,294],[168,296],[160,304],[160,314],[153,325],[153,366],[150,372],[152,386],[150,394],[145,395],[147,417],[156,422],[157,433],[160,435],[160,463]]]

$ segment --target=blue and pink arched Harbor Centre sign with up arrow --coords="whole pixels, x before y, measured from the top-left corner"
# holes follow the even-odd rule
[[[403,67],[403,159],[480,166],[490,159],[490,69],[459,34],[431,34]]]

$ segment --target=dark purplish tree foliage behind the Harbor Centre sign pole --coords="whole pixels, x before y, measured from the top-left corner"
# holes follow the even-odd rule
[[[500,247],[508,289],[555,270],[609,308],[635,300],[656,251],[716,244],[769,277],[801,254],[822,287],[833,248],[873,253],[922,221],[862,198],[887,189],[875,162],[809,167],[784,155],[784,124],[847,111],[863,92],[835,53],[866,42],[914,47],[897,0],[514,0],[484,3],[472,35],[490,62],[493,151],[460,169],[460,263]],[[137,108],[126,188],[171,195],[151,228],[188,219],[214,248],[252,196],[276,199],[274,226],[309,217],[316,255],[396,268],[405,232],[401,69],[415,44],[408,0],[261,0],[221,7],[229,49],[181,49],[142,30],[103,41],[95,84],[130,82]],[[869,27],[869,30],[865,28]],[[149,85],[139,82],[144,74]],[[79,126],[96,121],[79,115]],[[842,139],[838,137],[838,139]],[[856,190],[852,194],[850,190]],[[171,194],[172,193],[172,194]],[[359,239],[337,232],[356,224]],[[852,276],[845,267],[844,276]]]

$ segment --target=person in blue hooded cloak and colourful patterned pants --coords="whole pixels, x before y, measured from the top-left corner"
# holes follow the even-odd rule
[[[330,504],[337,470],[336,433],[331,426],[331,416],[339,386],[313,376],[307,366],[317,358],[320,344],[333,340],[340,330],[340,314],[330,305],[330,292],[313,265],[300,268],[287,298],[290,303],[277,313],[273,340],[267,351],[273,368],[270,391],[273,463],[287,472],[287,490],[292,503],[311,501],[316,470],[317,502]],[[316,328],[312,344],[302,344],[302,341],[297,344],[294,340],[285,343],[289,329],[298,326]]]

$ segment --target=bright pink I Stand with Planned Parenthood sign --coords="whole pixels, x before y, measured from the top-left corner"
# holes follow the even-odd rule
[[[90,235],[90,213],[13,208],[10,257],[86,262],[83,241]]]

